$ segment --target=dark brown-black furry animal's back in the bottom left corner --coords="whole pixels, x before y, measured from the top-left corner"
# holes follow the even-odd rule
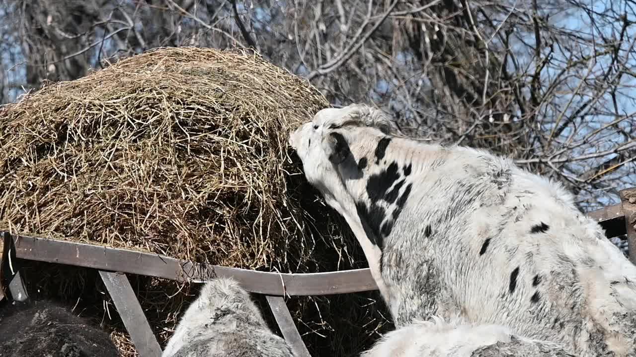
[[[98,327],[47,300],[15,302],[0,311],[0,356],[117,357]]]

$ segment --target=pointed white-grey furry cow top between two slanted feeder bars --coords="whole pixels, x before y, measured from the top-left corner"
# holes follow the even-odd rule
[[[170,337],[162,357],[293,357],[236,281],[205,283]]]

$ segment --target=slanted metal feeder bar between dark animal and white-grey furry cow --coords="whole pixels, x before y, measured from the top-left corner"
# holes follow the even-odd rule
[[[100,270],[99,275],[102,277],[111,299],[113,299],[123,325],[130,333],[130,339],[135,344],[139,356],[160,357],[161,347],[148,324],[148,320],[146,320],[146,315],[141,309],[126,274]]]

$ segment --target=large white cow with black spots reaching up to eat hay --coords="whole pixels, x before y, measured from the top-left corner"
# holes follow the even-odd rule
[[[636,356],[636,267],[562,185],[403,137],[366,105],[319,111],[289,144],[356,235],[397,326],[460,318],[578,356]]]

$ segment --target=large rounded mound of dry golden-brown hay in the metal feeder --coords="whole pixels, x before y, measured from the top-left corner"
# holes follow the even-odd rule
[[[264,271],[365,266],[287,145],[291,128],[327,106],[305,81],[245,50],[162,48],[48,83],[0,108],[0,228]],[[38,289],[52,284],[60,286],[39,280]],[[71,285],[55,294],[93,301]],[[165,340],[193,293],[151,278],[134,286]],[[314,355],[346,355],[385,323],[364,306],[373,297],[289,305]],[[113,336],[129,346],[121,330]]]

